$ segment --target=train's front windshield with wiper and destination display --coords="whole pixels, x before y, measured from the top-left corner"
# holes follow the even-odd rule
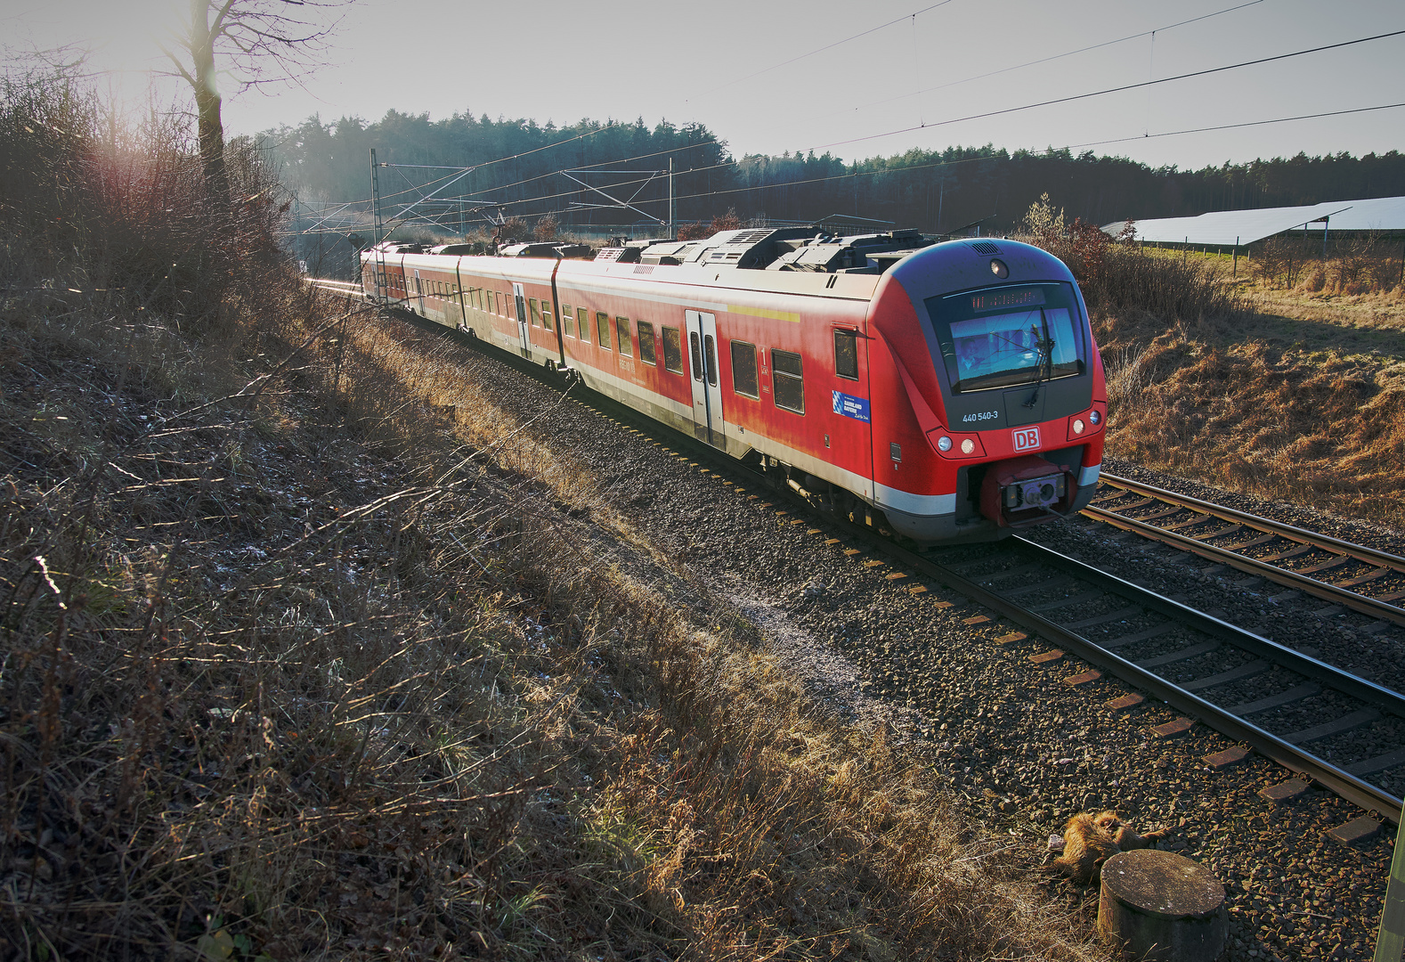
[[[927,298],[953,391],[1082,374],[1086,342],[1068,284],[1020,284]]]

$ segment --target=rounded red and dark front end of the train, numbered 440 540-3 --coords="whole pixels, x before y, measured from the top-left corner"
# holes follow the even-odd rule
[[[896,532],[985,541],[1087,505],[1107,388],[1061,260],[1003,239],[924,248],[882,277],[868,329],[874,499]]]

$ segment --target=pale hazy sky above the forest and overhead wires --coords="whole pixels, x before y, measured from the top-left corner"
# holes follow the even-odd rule
[[[187,10],[185,0],[0,0],[0,44],[6,60],[87,48],[98,82],[139,107]],[[1215,70],[1405,31],[1399,0],[360,0],[305,10],[337,21],[322,66],[299,84],[244,93],[225,75],[228,134],[311,115],[374,121],[393,108],[434,120],[695,121],[735,156],[853,160],[993,143],[1193,169],[1405,149],[1405,107],[1182,132],[1405,103],[1405,35]],[[1170,80],[1200,70],[1215,72]],[[1165,82],[1082,96],[1148,80]],[[163,101],[188,101],[188,90],[155,83],[166,84]],[[1065,97],[1076,100],[1030,107]]]

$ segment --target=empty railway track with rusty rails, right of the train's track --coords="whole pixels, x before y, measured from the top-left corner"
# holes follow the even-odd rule
[[[1405,626],[1405,557],[1104,474],[1083,515]]]

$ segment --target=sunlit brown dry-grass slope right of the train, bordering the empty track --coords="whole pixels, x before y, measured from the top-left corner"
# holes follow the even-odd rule
[[[1184,329],[1104,357],[1117,457],[1405,526],[1399,366]]]

